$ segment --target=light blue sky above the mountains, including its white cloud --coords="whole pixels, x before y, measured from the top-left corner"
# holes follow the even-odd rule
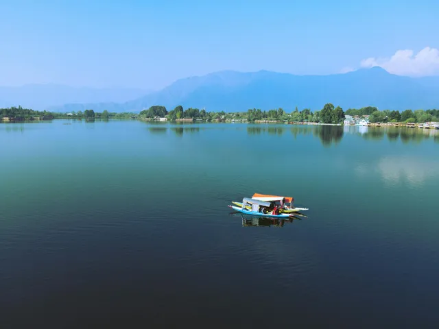
[[[439,75],[437,0],[0,0],[0,86],[159,90],[223,70]]]

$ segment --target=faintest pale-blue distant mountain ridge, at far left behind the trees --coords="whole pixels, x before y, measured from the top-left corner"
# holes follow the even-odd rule
[[[50,106],[66,103],[121,103],[144,96],[140,88],[88,88],[60,84],[26,84],[19,87],[0,86],[0,108],[23,106],[34,110],[47,110]]]

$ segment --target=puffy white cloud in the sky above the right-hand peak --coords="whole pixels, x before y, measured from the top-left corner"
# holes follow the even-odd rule
[[[439,75],[439,50],[425,47],[416,54],[410,49],[399,50],[391,58],[371,57],[361,60],[360,66],[380,66],[389,73],[412,77]]]

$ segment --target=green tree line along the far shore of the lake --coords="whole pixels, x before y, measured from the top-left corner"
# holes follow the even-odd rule
[[[84,110],[70,113],[58,113],[49,111],[36,111],[29,108],[12,107],[0,108],[0,118],[9,117],[12,119],[29,120],[36,117],[43,117],[48,119],[154,119],[155,117],[166,117],[168,120],[176,119],[202,119],[204,121],[226,121],[226,120],[244,120],[249,122],[254,121],[288,121],[288,122],[313,122],[313,123],[333,123],[338,124],[344,121],[346,115],[364,117],[368,116],[371,123],[377,122],[415,122],[424,123],[428,121],[439,121],[439,110],[378,110],[373,106],[366,106],[364,108],[349,108],[344,110],[332,103],[324,105],[322,110],[311,111],[305,108],[301,111],[296,107],[293,112],[286,112],[282,108],[272,110],[261,110],[257,108],[248,109],[246,112],[207,112],[206,110],[198,108],[187,108],[176,106],[174,110],[168,112],[165,106],[151,106],[146,110],[142,110],[139,114],[132,112],[94,112],[94,110]]]

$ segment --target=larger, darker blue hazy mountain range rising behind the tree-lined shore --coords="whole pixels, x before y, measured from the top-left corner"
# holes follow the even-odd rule
[[[27,106],[36,109],[37,104],[51,103],[53,106],[46,109],[55,112],[86,109],[95,112],[139,112],[153,105],[166,106],[168,110],[181,105],[183,108],[205,108],[207,111],[283,108],[289,112],[296,106],[299,109],[320,110],[329,102],[342,106],[344,110],[364,106],[376,106],[381,110],[439,108],[439,77],[404,77],[390,74],[378,66],[333,75],[221,71],[177,80],[162,90],[143,95],[136,95],[141,90],[113,90],[112,95],[105,98],[104,91],[93,94],[93,90],[86,89],[87,92],[81,96],[82,99],[90,99],[86,101],[67,100],[64,95],[71,97],[69,93],[51,95],[50,88],[44,93],[38,92],[41,88],[43,86],[34,86],[34,90],[30,88],[24,98],[29,104]],[[123,99],[130,95],[132,100]],[[6,96],[0,88],[0,100],[6,99]],[[18,104],[15,101],[15,105]],[[24,107],[24,104],[21,101],[20,105]]]

